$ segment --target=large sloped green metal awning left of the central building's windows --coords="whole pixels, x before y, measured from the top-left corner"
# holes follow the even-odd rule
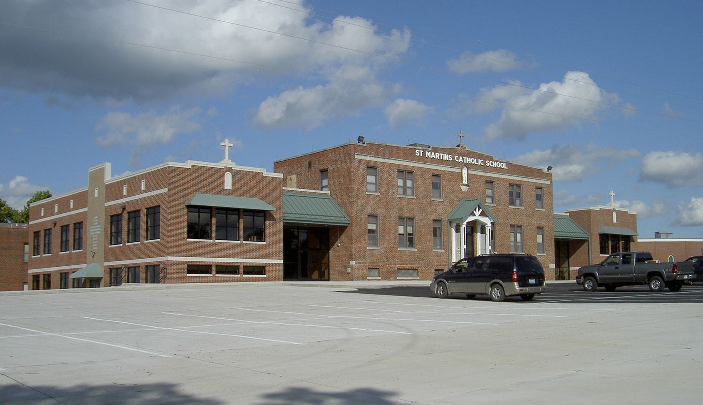
[[[348,226],[349,216],[329,195],[283,192],[283,224]]]

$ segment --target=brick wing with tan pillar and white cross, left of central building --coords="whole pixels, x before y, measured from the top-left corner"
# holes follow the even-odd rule
[[[280,174],[186,161],[112,176],[30,206],[32,290],[283,279]]]

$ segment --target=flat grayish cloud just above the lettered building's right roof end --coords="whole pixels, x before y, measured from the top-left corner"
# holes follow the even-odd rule
[[[513,160],[536,167],[552,166],[554,181],[581,181],[587,176],[597,175],[602,170],[629,158],[638,158],[641,153],[634,148],[617,150],[611,147],[588,145],[554,145],[546,150],[532,150]]]

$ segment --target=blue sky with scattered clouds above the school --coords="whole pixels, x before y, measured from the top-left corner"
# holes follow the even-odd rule
[[[553,166],[555,211],[703,238],[699,1],[4,1],[0,198],[355,141]]]

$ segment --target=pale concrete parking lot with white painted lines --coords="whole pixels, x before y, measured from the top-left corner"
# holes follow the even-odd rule
[[[342,283],[343,284],[343,283]],[[531,302],[428,282],[0,295],[0,404],[699,403],[703,285]]]

